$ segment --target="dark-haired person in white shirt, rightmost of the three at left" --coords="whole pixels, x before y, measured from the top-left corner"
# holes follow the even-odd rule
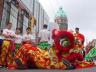
[[[31,43],[35,45],[35,36],[31,34],[31,28],[26,29],[26,34],[23,35],[23,43]]]

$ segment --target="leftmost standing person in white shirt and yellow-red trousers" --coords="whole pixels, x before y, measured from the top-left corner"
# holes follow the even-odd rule
[[[15,37],[15,32],[11,29],[12,23],[8,22],[7,28],[3,29],[3,36],[5,40],[3,41],[1,55],[0,55],[0,65],[8,66],[12,63],[12,52],[14,50],[13,39]]]

